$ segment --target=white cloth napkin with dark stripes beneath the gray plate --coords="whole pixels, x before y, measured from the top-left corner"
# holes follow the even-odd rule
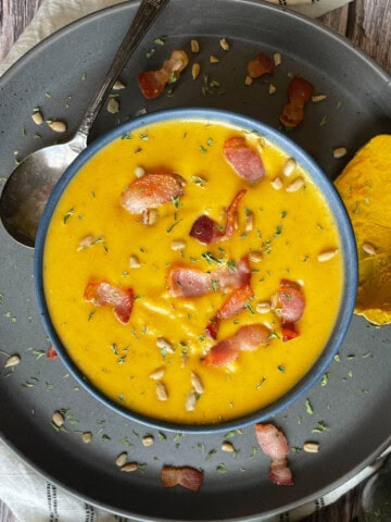
[[[30,25],[13,46],[5,60],[0,63],[0,75],[15,63],[26,51],[53,32],[99,9],[121,3],[124,0],[45,0]],[[268,0],[287,5],[312,17],[338,9],[351,0]],[[295,522],[336,502],[346,492],[370,476],[380,465],[363,470],[352,481],[290,513],[273,517],[269,522],[283,520]],[[112,513],[89,506],[65,489],[51,484],[30,469],[0,439],[0,499],[5,502],[18,522],[125,522]]]

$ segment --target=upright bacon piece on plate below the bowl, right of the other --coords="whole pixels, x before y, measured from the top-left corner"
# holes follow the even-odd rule
[[[287,455],[289,446],[287,437],[274,424],[255,424],[255,436],[262,451],[270,457],[269,480],[277,485],[293,485],[292,472]]]

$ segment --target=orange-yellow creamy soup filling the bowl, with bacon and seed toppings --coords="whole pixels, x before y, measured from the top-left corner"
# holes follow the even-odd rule
[[[288,160],[256,133],[173,121],[115,140],[72,179],[46,239],[45,294],[102,394],[154,419],[218,423],[308,371],[338,313],[342,259],[327,202]]]

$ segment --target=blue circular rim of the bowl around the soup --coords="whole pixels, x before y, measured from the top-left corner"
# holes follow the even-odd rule
[[[43,258],[47,232],[51,222],[51,216],[60,201],[64,190],[71,183],[73,177],[92,157],[99,153],[104,147],[121,139],[129,132],[136,130],[140,127],[146,127],[154,123],[173,120],[188,120],[202,121],[207,123],[222,123],[238,127],[242,130],[250,130],[265,136],[266,139],[275,144],[304,167],[310,177],[319,188],[323,197],[329,203],[329,208],[337,223],[340,241],[342,246],[343,273],[344,281],[342,287],[342,298],[337,314],[333,331],[331,332],[321,353],[311,369],[300,378],[300,381],[290,388],[283,396],[279,397],[274,402],[264,408],[250,412],[248,414],[223,421],[220,423],[205,423],[205,424],[187,424],[179,422],[165,421],[155,419],[146,414],[135,412],[121,403],[115,402],[114,399],[109,398],[92,383],[90,383],[84,375],[81,370],[76,365],[73,359],[68,356],[66,349],[55,332],[55,328],[50,319],[50,312],[45,297],[43,285]],[[358,283],[358,262],[355,236],[345,206],[333,186],[331,179],[327,177],[320,166],[313,160],[307,152],[305,152],[300,145],[294,142],[290,137],[282,132],[256,120],[251,116],[242,115],[227,110],[220,109],[200,109],[200,108],[179,108],[179,109],[164,109],[153,113],[147,113],[135,117],[134,120],[124,122],[116,127],[113,127],[94,139],[87,148],[74,160],[74,162],[66,169],[65,173],[56,183],[48,203],[43,210],[40,220],[34,256],[34,281],[35,295],[46,333],[49,336],[51,344],[58,352],[65,368],[72,376],[92,395],[98,401],[109,407],[111,410],[119,413],[127,420],[135,421],[148,427],[166,430],[169,432],[207,434],[226,432],[227,430],[242,428],[257,422],[270,420],[276,414],[286,410],[295,400],[301,398],[327,371],[327,368],[333,360],[338,352],[343,338],[349,330],[351,319],[353,316],[354,304],[356,299],[357,283]]]

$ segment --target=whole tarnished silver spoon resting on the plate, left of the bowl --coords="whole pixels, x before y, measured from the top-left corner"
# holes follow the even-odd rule
[[[105,79],[88,107],[75,136],[27,156],[11,173],[0,197],[0,217],[16,241],[34,247],[48,198],[66,167],[87,147],[89,130],[116,78],[168,0],[141,0]]]

